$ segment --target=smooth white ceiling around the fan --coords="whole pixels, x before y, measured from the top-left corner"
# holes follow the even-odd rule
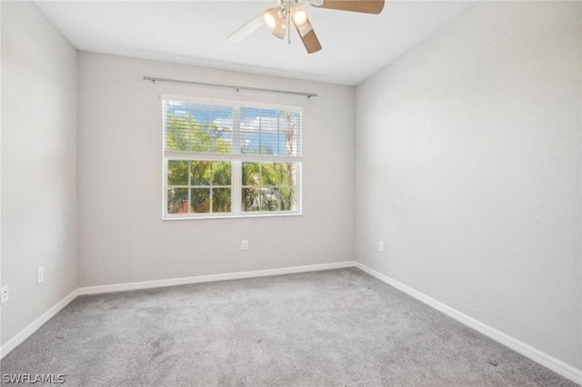
[[[359,84],[474,5],[386,1],[380,15],[304,5],[323,50],[307,55],[261,27],[244,42],[226,41],[271,1],[53,2],[36,5],[79,50],[190,65]]]

